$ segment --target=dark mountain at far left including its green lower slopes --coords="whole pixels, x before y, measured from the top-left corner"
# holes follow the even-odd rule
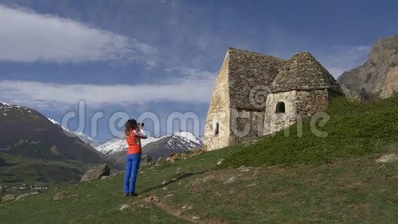
[[[78,181],[90,164],[120,168],[114,159],[34,109],[5,102],[0,102],[0,155],[12,164],[1,167],[0,183]]]

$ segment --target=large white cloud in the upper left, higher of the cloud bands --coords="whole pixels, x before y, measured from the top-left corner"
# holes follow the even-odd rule
[[[0,27],[3,61],[156,65],[157,49],[151,45],[71,19],[0,5]]]

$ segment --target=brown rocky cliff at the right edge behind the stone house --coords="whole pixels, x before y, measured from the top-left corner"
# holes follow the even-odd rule
[[[379,38],[366,63],[344,72],[338,82],[349,98],[388,98],[398,91],[398,35]]]

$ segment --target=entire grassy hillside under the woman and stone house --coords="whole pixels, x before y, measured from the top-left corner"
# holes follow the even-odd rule
[[[328,137],[283,132],[173,164],[142,168],[140,197],[122,197],[122,176],[0,204],[5,223],[397,223],[398,98],[334,100]],[[224,159],[220,166],[218,161]],[[239,166],[245,165],[246,167]],[[152,201],[148,200],[152,197]],[[158,198],[159,200],[156,200]],[[145,200],[146,199],[146,200]],[[119,211],[123,204],[130,210]],[[29,212],[27,212],[29,211]],[[195,219],[193,219],[195,218]],[[198,219],[196,219],[198,218]]]

